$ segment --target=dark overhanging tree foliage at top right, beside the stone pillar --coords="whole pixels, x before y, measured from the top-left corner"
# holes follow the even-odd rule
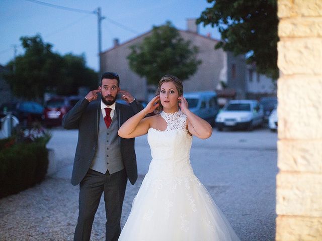
[[[235,55],[246,54],[259,73],[278,78],[277,67],[277,1],[276,0],[207,0],[211,8],[201,13],[197,24],[218,27],[223,48]]]

